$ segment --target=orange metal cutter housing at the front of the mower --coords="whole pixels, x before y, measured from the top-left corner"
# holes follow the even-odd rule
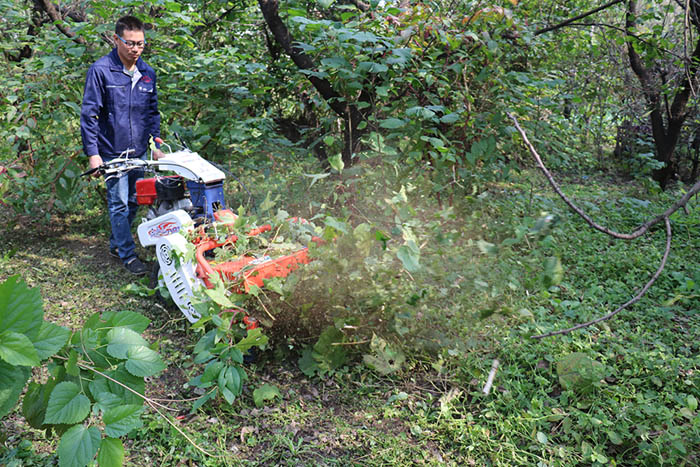
[[[230,213],[230,211],[228,212]],[[219,213],[215,213],[214,216],[219,218],[217,214]],[[266,224],[251,230],[247,235],[255,236],[269,230],[272,230],[272,226]],[[244,256],[236,261],[210,263],[204,257],[205,252],[220,247],[226,243],[235,243],[237,240],[238,237],[236,235],[231,235],[224,242],[203,238],[197,243],[195,255],[197,259],[197,266],[195,268],[195,272],[197,277],[204,282],[204,285],[208,289],[214,287],[214,284],[212,284],[209,280],[209,275],[212,273],[217,273],[222,278],[229,280],[241,281],[244,290],[249,292],[252,285],[262,287],[263,280],[265,279],[270,279],[272,277],[287,277],[289,273],[298,269],[300,264],[308,264],[311,261],[308,256],[309,249],[307,247],[301,248],[300,250],[289,255],[264,260],[254,258],[252,256]],[[320,239],[314,239],[314,241],[316,240]],[[243,271],[243,269],[245,269],[245,271]],[[238,287],[238,290],[234,291],[240,293],[240,287]]]

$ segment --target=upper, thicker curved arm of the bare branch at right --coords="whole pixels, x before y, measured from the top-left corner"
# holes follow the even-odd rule
[[[590,225],[591,227],[593,227],[594,229],[596,229],[600,232],[603,232],[604,234],[610,235],[611,237],[618,238],[621,240],[634,240],[635,238],[641,237],[654,225],[658,224],[659,222],[661,222],[663,220],[667,220],[674,212],[678,211],[681,207],[685,206],[688,203],[688,201],[690,201],[691,197],[693,197],[696,193],[700,192],[700,181],[698,181],[697,183],[695,183],[695,185],[693,185],[691,187],[690,190],[688,190],[688,192],[682,198],[680,198],[678,201],[676,201],[670,208],[668,208],[666,211],[659,214],[658,216],[656,216],[652,219],[649,219],[648,221],[646,221],[645,223],[640,225],[632,233],[625,234],[625,233],[619,233],[619,232],[616,232],[614,230],[611,230],[605,226],[597,224],[585,212],[583,212],[583,210],[581,208],[579,208],[576,204],[574,204],[573,201],[571,201],[564,194],[564,192],[561,191],[561,188],[559,187],[557,182],[554,180],[554,177],[552,177],[552,174],[549,172],[549,170],[547,170],[547,167],[545,167],[544,163],[542,162],[542,158],[537,153],[537,150],[532,145],[530,140],[527,138],[527,135],[525,134],[525,131],[522,129],[522,127],[520,126],[518,119],[515,118],[515,116],[513,114],[511,114],[510,112],[506,112],[506,114],[508,115],[508,117],[510,117],[510,119],[515,124],[515,128],[520,133],[520,136],[523,137],[523,141],[525,142],[525,145],[530,150],[530,154],[532,154],[532,156],[535,158],[535,161],[537,161],[537,165],[539,166],[542,173],[544,173],[544,176],[547,178],[547,180],[549,181],[549,184],[552,186],[554,191],[556,191],[556,193],[561,197],[561,199],[564,200],[564,202],[574,212],[576,212],[576,214],[581,216],[581,218],[583,220],[585,220],[586,223],[588,223],[588,225]]]

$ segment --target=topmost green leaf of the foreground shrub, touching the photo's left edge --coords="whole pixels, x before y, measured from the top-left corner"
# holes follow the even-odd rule
[[[11,276],[0,284],[0,329],[34,340],[43,319],[39,289],[30,289],[19,276]]]

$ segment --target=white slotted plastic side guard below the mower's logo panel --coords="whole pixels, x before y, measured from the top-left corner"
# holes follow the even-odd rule
[[[156,256],[160,265],[160,273],[170,296],[177,307],[190,323],[195,323],[202,317],[192,305],[193,291],[202,286],[197,278],[194,265],[177,261],[173,250],[185,251],[187,240],[178,234],[162,237],[156,245]]]

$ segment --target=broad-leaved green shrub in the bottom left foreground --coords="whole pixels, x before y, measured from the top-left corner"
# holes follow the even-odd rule
[[[0,284],[0,417],[17,404],[31,369],[44,366],[48,380],[29,383],[22,414],[33,428],[60,436],[59,465],[87,465],[95,455],[100,464],[120,465],[119,438],[141,426],[144,378],[165,368],[140,335],[149,320],[104,312],[71,333],[43,314],[38,290],[19,276]]]

